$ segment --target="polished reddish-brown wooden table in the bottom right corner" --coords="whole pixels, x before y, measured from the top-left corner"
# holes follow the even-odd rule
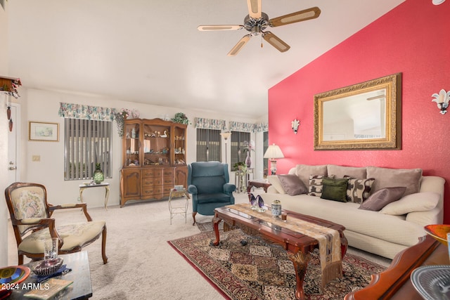
[[[420,266],[448,265],[449,252],[430,235],[420,242],[399,252],[383,273],[372,275],[372,281],[364,289],[349,293],[345,300],[395,299],[422,300],[410,277]]]

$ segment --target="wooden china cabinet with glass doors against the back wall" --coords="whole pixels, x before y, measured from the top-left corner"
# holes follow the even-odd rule
[[[186,124],[126,119],[122,138],[120,207],[128,200],[161,200],[187,187]]]

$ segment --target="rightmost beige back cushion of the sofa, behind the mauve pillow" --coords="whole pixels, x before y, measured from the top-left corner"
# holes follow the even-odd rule
[[[367,167],[367,178],[375,178],[372,193],[382,188],[404,186],[404,195],[418,193],[422,169],[389,169],[380,167]]]

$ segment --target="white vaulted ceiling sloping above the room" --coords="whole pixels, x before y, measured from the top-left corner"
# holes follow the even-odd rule
[[[317,6],[319,18],[270,28],[281,53],[246,30],[245,0],[8,1],[10,76],[25,87],[257,119],[267,91],[405,0],[262,0],[275,18]],[[263,47],[261,47],[261,44]]]

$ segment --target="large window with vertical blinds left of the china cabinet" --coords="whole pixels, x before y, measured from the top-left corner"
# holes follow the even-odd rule
[[[64,179],[91,179],[96,164],[111,178],[111,124],[86,119],[64,119]]]

